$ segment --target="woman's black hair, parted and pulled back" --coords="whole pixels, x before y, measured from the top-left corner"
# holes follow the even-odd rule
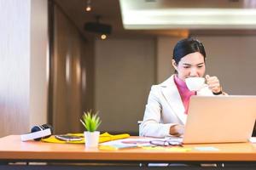
[[[185,55],[199,52],[203,55],[204,60],[206,60],[207,54],[203,44],[192,37],[185,38],[177,42],[173,49],[173,58],[175,63],[178,64],[180,59],[182,59]]]

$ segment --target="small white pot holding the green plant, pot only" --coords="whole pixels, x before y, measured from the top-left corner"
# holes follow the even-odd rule
[[[100,132],[84,131],[85,148],[97,148],[99,144]]]

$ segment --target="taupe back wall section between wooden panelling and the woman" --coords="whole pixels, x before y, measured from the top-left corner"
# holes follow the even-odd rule
[[[154,39],[96,41],[95,108],[100,129],[138,132],[149,89],[154,84]]]

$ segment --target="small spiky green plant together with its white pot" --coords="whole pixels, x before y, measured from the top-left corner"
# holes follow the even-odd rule
[[[96,148],[99,144],[100,132],[96,129],[100,126],[101,120],[98,113],[93,114],[92,111],[84,112],[80,122],[87,131],[84,131],[84,140],[86,148]]]

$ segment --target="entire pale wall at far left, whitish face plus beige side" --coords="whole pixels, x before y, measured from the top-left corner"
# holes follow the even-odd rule
[[[47,3],[0,1],[0,136],[46,122]]]

